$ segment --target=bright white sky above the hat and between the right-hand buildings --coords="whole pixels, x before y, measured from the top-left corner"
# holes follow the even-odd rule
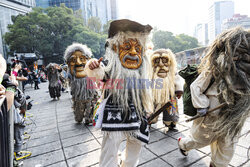
[[[193,35],[199,23],[208,22],[208,9],[215,0],[117,0],[118,16],[142,24]],[[250,0],[233,0],[234,12],[250,17]]]

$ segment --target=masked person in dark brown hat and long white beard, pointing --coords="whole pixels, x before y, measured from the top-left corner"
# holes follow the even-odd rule
[[[121,166],[137,166],[142,142],[149,140],[145,116],[146,112],[152,112],[150,91],[137,88],[137,81],[149,78],[145,51],[151,29],[150,25],[126,19],[110,24],[103,81],[106,81],[107,87],[114,85],[104,91],[107,101],[103,111],[100,167],[117,167],[118,149],[124,139],[127,141],[126,153]],[[86,68],[96,70],[100,61],[93,60]],[[88,77],[95,76],[88,73]]]

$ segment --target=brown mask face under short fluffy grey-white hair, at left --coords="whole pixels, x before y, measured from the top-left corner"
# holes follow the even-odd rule
[[[84,67],[87,63],[87,58],[83,55],[81,51],[75,51],[72,53],[69,61],[69,68],[71,75],[76,78],[86,77],[87,74],[84,71]]]

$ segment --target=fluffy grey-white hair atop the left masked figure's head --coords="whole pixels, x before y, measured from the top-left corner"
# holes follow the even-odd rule
[[[87,58],[92,57],[92,52],[90,48],[87,47],[87,45],[83,45],[80,43],[73,43],[72,45],[69,45],[64,53],[64,59],[66,62],[69,61],[69,58],[75,51],[82,52]]]

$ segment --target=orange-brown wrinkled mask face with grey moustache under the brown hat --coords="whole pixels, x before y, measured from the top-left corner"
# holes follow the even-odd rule
[[[139,41],[129,38],[119,45],[119,58],[123,67],[138,69],[142,64],[142,46]]]

